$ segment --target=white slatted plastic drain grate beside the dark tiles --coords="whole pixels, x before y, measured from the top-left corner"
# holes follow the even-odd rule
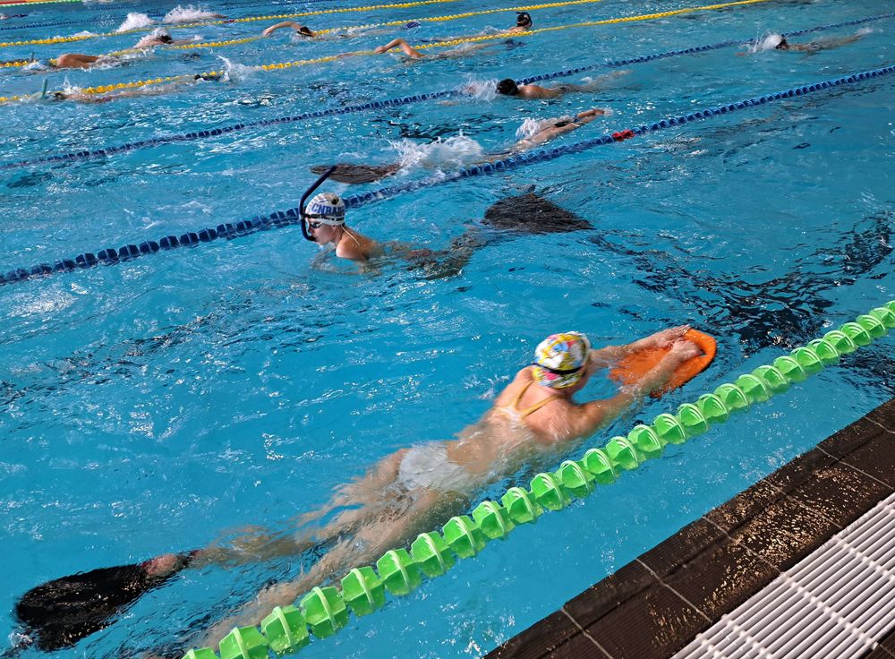
[[[895,494],[721,616],[674,659],[848,659],[893,623]]]

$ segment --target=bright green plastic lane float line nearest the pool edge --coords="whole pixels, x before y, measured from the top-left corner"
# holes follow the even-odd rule
[[[797,347],[703,394],[695,403],[684,403],[677,414],[657,415],[652,424],[637,425],[626,436],[611,438],[601,449],[588,449],[580,460],[564,461],[554,473],[535,475],[529,489],[511,487],[500,501],[482,501],[472,517],[451,518],[441,532],[417,537],[405,548],[386,552],[376,569],[352,569],[335,586],[314,587],[298,608],[278,607],[254,627],[235,628],[220,642],[219,659],[261,659],[268,650],[292,653],[317,638],[332,636],[348,624],[349,612],[363,616],[386,603],[385,593],[408,595],[422,585],[422,578],[439,577],[454,567],[456,559],[475,556],[492,540],[506,538],[516,526],[536,522],[544,510],[566,508],[582,499],[596,485],[608,485],[623,471],[648,459],[658,458],[668,444],[680,444],[724,423],[731,415],[805,381],[825,366],[837,364],[841,355],[870,345],[895,328],[895,301],[860,315],[855,321],[832,329],[805,347]],[[183,659],[218,659],[209,648],[190,650]]]

